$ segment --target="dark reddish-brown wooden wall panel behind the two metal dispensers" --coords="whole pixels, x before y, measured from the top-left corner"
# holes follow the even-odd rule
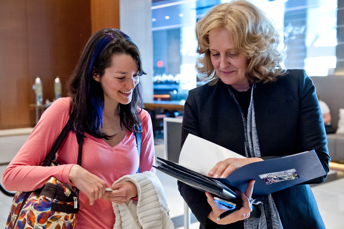
[[[56,76],[65,85],[91,35],[89,1],[84,2],[28,1],[30,81],[42,79],[43,101],[55,97]]]

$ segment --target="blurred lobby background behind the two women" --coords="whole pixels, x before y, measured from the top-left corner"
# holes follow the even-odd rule
[[[82,48],[102,28],[122,30],[140,49],[147,72],[141,78],[144,108],[152,118],[156,156],[165,157],[163,119],[181,120],[188,91],[207,82],[194,68],[195,24],[209,8],[228,1],[0,0],[0,173],[54,101],[56,77],[67,96],[66,80]],[[285,67],[306,70],[329,104],[336,128],[338,109],[344,108],[344,83],[338,83],[344,82],[344,0],[249,1],[271,17],[289,47]],[[33,89],[37,77],[43,89],[39,105]],[[334,163],[329,177],[312,186],[327,229],[344,228],[342,135],[332,135],[336,153],[330,150]],[[184,202],[176,179],[157,173],[175,227],[183,228]],[[0,227],[6,225],[11,201],[0,193]],[[190,223],[190,228],[199,227],[193,215]]]

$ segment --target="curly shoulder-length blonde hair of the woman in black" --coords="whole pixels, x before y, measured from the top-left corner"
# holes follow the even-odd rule
[[[219,78],[210,59],[209,31],[220,28],[232,33],[234,47],[249,60],[246,77],[250,82],[273,82],[286,73],[282,67],[286,48],[279,48],[281,39],[275,25],[254,4],[238,0],[214,6],[196,23],[200,54],[196,70],[214,79],[211,84],[216,84]]]

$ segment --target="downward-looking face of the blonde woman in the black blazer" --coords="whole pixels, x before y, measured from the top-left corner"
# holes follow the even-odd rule
[[[209,51],[215,73],[225,84],[238,91],[249,89],[245,76],[248,60],[235,50],[232,33],[224,28],[210,30]]]

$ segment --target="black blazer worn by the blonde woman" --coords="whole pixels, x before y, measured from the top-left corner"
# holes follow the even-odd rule
[[[287,75],[273,83],[257,83],[253,101],[262,159],[314,149],[325,171],[329,171],[322,114],[313,82],[304,70],[288,70]],[[184,105],[181,146],[188,133],[245,156],[240,111],[222,81],[189,91]],[[326,176],[308,184],[322,183]],[[178,186],[201,223],[200,228],[244,228],[243,220],[225,226],[207,220],[211,207],[205,194],[181,182]],[[283,189],[272,193],[272,197],[284,228],[325,228],[309,185]]]

